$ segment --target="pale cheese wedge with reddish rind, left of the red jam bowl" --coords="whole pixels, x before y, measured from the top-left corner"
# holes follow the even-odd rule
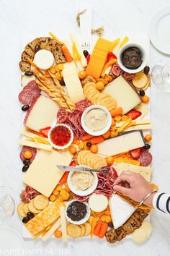
[[[58,109],[57,103],[40,95],[25,121],[25,126],[36,132],[40,132],[40,129],[45,127],[50,127],[57,116]]]

